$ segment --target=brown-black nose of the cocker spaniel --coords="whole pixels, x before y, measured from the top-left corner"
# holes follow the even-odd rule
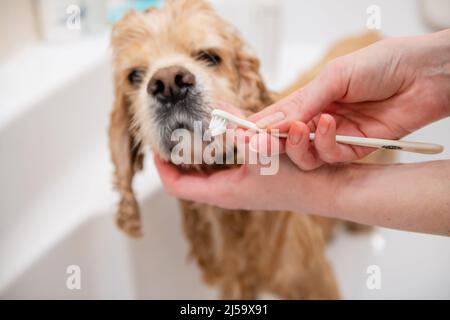
[[[158,70],[147,86],[147,92],[160,102],[175,103],[183,99],[195,84],[195,76],[186,68],[172,66]]]

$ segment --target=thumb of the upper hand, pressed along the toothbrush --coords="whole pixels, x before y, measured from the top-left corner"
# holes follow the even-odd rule
[[[309,122],[333,102],[342,99],[350,82],[347,59],[335,59],[303,88],[293,92],[249,120],[260,128],[287,132],[294,121]]]

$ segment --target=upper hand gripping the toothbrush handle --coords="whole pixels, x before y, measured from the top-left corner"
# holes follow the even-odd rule
[[[338,144],[336,134],[398,139],[448,115],[450,30],[383,40],[340,57],[250,120],[289,132],[286,153],[300,168],[312,170],[373,151]],[[310,131],[316,133],[314,143]]]

